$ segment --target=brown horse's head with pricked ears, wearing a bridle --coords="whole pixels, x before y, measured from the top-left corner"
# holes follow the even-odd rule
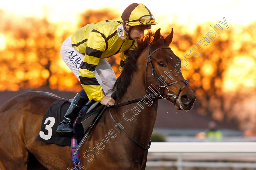
[[[161,97],[173,102],[176,109],[189,110],[193,107],[196,96],[183,78],[179,57],[168,47],[172,37],[173,29],[165,38],[158,29],[147,50],[143,51],[148,56],[145,70],[146,91],[155,92],[152,86],[158,87]]]

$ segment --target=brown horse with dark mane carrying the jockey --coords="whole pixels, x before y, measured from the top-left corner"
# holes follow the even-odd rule
[[[166,38],[161,36],[160,29],[155,34],[149,32],[138,42],[137,49],[130,52],[112,97],[116,103],[144,98],[139,102],[105,110],[80,149],[83,169],[145,169],[147,152],[143,157],[144,150],[120,129],[138,144],[148,147],[158,107],[158,96],[153,98],[149,95],[156,91],[155,87],[162,86],[159,94],[174,102],[176,109],[192,108],[195,95],[181,74],[179,58],[168,48],[172,36],[173,30]],[[45,111],[58,99],[55,95],[27,92],[1,106],[1,170],[72,169],[70,147],[36,141]]]

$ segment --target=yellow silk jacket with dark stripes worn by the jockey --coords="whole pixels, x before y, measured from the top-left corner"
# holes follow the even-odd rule
[[[77,30],[71,38],[73,48],[85,54],[79,69],[79,78],[89,100],[101,101],[105,96],[94,75],[94,70],[102,58],[122,52],[120,71],[126,59],[124,51],[132,50],[137,41],[122,40],[118,36],[117,26],[122,25],[120,21],[101,21],[97,24],[88,24]]]

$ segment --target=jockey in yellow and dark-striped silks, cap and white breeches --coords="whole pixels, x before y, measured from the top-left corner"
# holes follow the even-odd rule
[[[121,18],[120,21],[87,24],[63,42],[61,57],[84,89],[74,97],[64,120],[59,123],[57,134],[74,134],[73,118],[88,100],[101,102],[108,107],[114,105],[115,100],[111,95],[116,75],[106,57],[122,53],[119,68],[122,72],[128,51],[136,47],[145,29],[157,24],[155,17],[143,4],[129,5]]]

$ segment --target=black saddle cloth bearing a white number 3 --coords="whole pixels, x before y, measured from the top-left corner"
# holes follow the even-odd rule
[[[71,136],[60,136],[56,134],[57,127],[59,123],[62,122],[63,117],[70,106],[70,103],[70,99],[60,99],[52,103],[52,105],[44,114],[41,130],[37,136],[36,141],[70,146]],[[88,105],[90,107],[88,107]],[[86,130],[91,125],[94,118],[98,115],[97,113],[99,113],[103,107],[104,106],[99,102],[89,101],[81,109],[81,117],[77,118],[76,124],[74,125],[75,135],[78,143],[83,138]]]

